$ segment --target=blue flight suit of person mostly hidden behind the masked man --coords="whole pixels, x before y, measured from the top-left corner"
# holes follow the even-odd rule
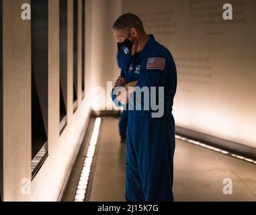
[[[121,76],[126,77],[125,73],[125,66],[126,66],[126,61],[129,60],[130,56],[126,54],[122,54],[121,52],[118,52],[117,54],[117,59],[118,59],[118,67],[121,69]],[[123,110],[120,120],[119,120],[119,134],[120,136],[126,136],[126,131],[127,131],[127,126],[128,126],[128,110]]]

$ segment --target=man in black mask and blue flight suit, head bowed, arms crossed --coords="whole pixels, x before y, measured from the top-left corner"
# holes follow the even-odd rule
[[[164,99],[164,112],[153,117],[155,110],[130,110],[126,144],[126,200],[173,201],[173,155],[175,150],[175,120],[173,99],[177,88],[175,62],[167,48],[147,35],[140,18],[132,13],[120,16],[112,27],[118,50],[132,55],[125,69],[126,78],[118,77],[112,99],[117,105],[135,101],[127,91],[123,99],[116,91],[128,86],[148,87],[150,96]],[[152,88],[151,88],[152,87]],[[164,87],[163,98],[152,93]],[[130,95],[129,95],[130,93]],[[151,98],[152,99],[152,98]],[[144,101],[145,102],[145,101]],[[129,107],[130,108],[130,107]]]

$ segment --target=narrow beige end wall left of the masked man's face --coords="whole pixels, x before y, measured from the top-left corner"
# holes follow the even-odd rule
[[[93,0],[91,7],[91,73],[94,87],[103,87],[105,99],[99,99],[99,108],[113,107],[107,81],[116,81],[120,75],[116,54],[117,45],[112,34],[112,25],[121,15],[122,1]],[[100,97],[99,97],[100,98]],[[105,101],[101,103],[100,101]]]

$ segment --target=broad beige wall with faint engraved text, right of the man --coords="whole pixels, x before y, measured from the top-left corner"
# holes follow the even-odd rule
[[[256,148],[256,2],[123,0],[177,65],[177,126]]]

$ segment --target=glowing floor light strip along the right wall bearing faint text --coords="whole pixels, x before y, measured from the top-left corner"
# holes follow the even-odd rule
[[[175,135],[175,138],[178,139],[178,140],[183,140],[183,141],[189,142],[189,143],[191,143],[191,144],[196,144],[196,145],[201,146],[201,147],[204,147],[204,148],[208,148],[208,149],[210,149],[210,150],[214,150],[214,151],[216,151],[216,152],[218,152],[218,153],[222,153],[222,154],[224,154],[224,155],[229,155],[229,156],[231,156],[231,157],[235,157],[235,158],[237,158],[237,159],[240,159],[240,160],[243,160],[243,161],[247,161],[247,162],[249,162],[249,163],[254,163],[254,164],[256,164],[256,161],[254,161],[253,159],[248,159],[247,157],[243,157],[243,156],[241,156],[241,155],[235,155],[235,154],[232,154],[232,153],[230,153],[230,152],[228,152],[228,151],[226,151],[226,150],[222,150],[222,149],[220,149],[220,148],[216,148],[216,147],[213,147],[213,146],[209,146],[209,145],[204,144],[204,143],[202,143],[202,142],[198,142],[198,141],[195,141],[195,140],[190,140],[190,139],[188,139],[188,138],[185,138],[185,137],[179,136],[179,135]]]

